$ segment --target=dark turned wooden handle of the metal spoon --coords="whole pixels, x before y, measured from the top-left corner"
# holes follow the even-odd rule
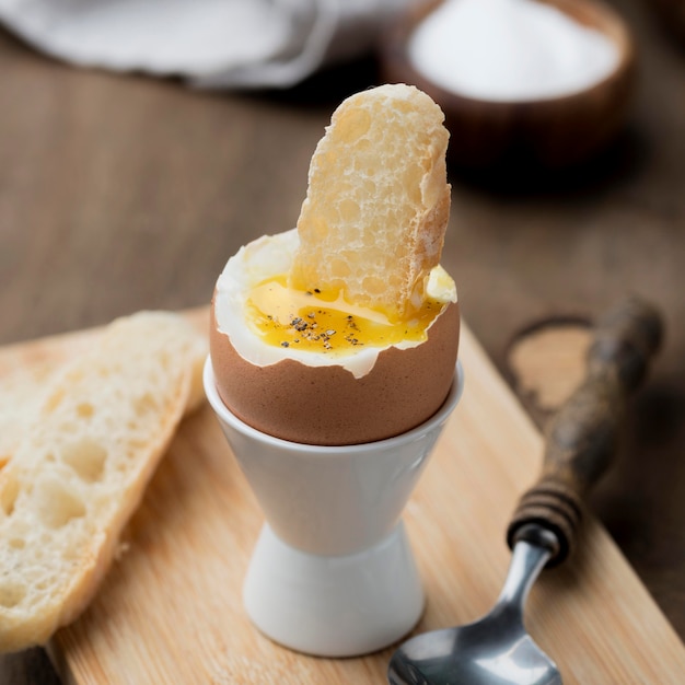
[[[595,326],[587,375],[545,431],[545,458],[536,485],[521,498],[507,531],[514,543],[537,524],[559,542],[548,566],[571,553],[582,499],[608,466],[630,394],[641,384],[663,333],[659,313],[630,298]]]

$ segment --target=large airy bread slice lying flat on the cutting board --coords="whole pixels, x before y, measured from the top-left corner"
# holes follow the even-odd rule
[[[182,316],[141,312],[47,380],[0,471],[0,651],[46,642],[86,606],[206,353]]]

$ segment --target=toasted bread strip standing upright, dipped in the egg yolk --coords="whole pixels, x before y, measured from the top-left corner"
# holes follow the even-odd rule
[[[404,316],[440,262],[450,214],[443,113],[423,92],[348,97],[318,142],[291,285]]]

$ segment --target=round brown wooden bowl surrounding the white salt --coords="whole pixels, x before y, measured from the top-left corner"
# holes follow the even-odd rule
[[[557,170],[587,161],[604,148],[625,123],[636,76],[636,53],[623,20],[601,0],[539,0],[616,43],[615,71],[584,91],[561,97],[521,102],[475,100],[446,91],[419,73],[408,44],[416,26],[440,2],[415,5],[388,25],[381,39],[381,76],[411,83],[445,114],[451,132],[449,159],[467,170],[500,167]]]

